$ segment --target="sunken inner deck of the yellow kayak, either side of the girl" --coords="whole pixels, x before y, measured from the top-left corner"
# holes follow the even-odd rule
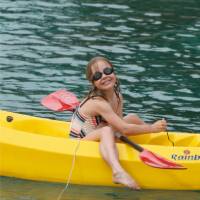
[[[26,133],[34,133],[53,137],[67,138],[70,122],[51,120],[26,115],[14,114],[7,111],[0,112],[0,123],[3,127],[13,128]],[[170,140],[175,146],[200,147],[200,137],[197,134],[183,132],[169,132]],[[149,145],[172,146],[167,132],[131,136],[136,143]]]

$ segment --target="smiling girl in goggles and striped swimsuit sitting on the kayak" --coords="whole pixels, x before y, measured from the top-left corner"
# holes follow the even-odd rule
[[[73,115],[70,136],[100,141],[100,152],[112,169],[113,182],[140,189],[119,162],[115,134],[130,136],[165,131],[166,121],[159,120],[150,125],[134,114],[123,117],[119,81],[112,63],[106,58],[93,58],[88,63],[86,76],[92,89]]]

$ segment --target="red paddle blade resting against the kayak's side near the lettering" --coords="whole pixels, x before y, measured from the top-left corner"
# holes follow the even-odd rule
[[[167,160],[151,151],[144,149],[140,153],[140,159],[147,165],[161,169],[187,169],[184,166]]]

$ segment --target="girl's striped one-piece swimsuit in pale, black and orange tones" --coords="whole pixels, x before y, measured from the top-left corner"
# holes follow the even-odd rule
[[[71,138],[83,138],[95,130],[101,122],[105,122],[101,116],[87,117],[83,115],[79,106],[72,116],[69,135]]]

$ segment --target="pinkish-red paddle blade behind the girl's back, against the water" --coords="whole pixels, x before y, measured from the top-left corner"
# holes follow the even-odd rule
[[[72,92],[61,89],[44,97],[41,104],[53,111],[72,111],[79,105],[79,101]]]

